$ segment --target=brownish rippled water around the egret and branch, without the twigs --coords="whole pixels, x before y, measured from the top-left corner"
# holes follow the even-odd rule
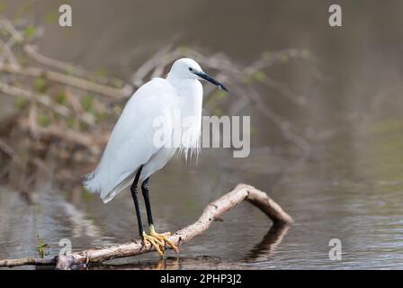
[[[307,138],[310,129],[332,135],[310,144],[308,152],[271,137],[272,124],[252,114],[257,131],[250,157],[204,149],[198,166],[175,158],[151,182],[161,231],[193,222],[208,202],[240,182],[279,202],[295,220],[291,228],[271,229],[260,211],[242,203],[181,247],[180,256],[169,252],[158,263],[157,255],[148,254],[103,268],[403,268],[403,3],[341,1],[344,26],[329,28],[327,1],[169,2],[158,11],[155,4],[131,1],[67,2],[73,28],[45,25],[40,49],[90,69],[129,78],[141,60],[174,39],[225,51],[239,63],[265,50],[310,49],[327,78],[313,85],[303,67],[288,71],[308,102],[298,111],[284,103],[273,107],[299,123]],[[36,3],[31,15],[37,21],[57,11],[53,2]],[[278,69],[273,74],[283,75]],[[28,205],[20,193],[0,191],[0,258],[36,256],[38,230],[51,255],[58,253],[60,238],[80,249],[137,237],[127,192],[104,205],[96,195],[43,184]],[[329,260],[332,238],[341,240],[341,261]]]

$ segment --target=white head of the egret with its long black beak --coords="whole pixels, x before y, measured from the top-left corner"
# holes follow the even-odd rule
[[[228,92],[228,89],[224,85],[220,84],[219,81],[204,73],[203,70],[201,70],[200,65],[191,58],[180,58],[176,60],[174,65],[171,67],[171,71],[169,71],[169,75],[175,76],[175,78],[178,79],[203,79],[213,85],[218,86],[219,89]]]

